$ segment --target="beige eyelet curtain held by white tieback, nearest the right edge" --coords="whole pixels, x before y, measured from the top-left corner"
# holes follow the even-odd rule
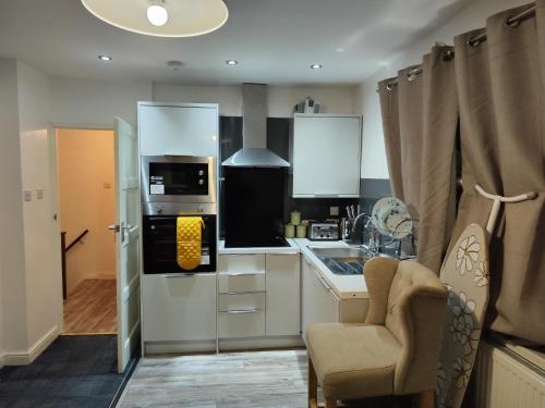
[[[453,236],[486,225],[492,201],[475,184],[501,196],[538,194],[502,205],[491,242],[488,319],[493,330],[545,344],[545,0],[535,16],[506,25],[525,9],[456,38],[463,194]],[[484,32],[485,41],[468,44]]]

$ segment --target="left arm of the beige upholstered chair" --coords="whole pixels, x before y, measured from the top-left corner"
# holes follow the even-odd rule
[[[385,324],[388,295],[398,264],[398,260],[390,258],[372,258],[365,262],[363,275],[370,295],[365,324]]]

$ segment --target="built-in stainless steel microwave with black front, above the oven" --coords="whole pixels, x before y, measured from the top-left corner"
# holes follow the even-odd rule
[[[216,158],[142,156],[143,202],[216,202]]]

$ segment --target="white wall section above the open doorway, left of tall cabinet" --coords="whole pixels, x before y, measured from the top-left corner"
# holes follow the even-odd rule
[[[152,82],[50,78],[51,122],[111,128],[113,118],[136,123],[136,102],[152,100]]]

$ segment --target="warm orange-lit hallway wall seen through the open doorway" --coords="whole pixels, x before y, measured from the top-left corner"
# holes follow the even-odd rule
[[[70,293],[85,279],[116,279],[113,131],[57,131],[59,209],[66,245],[89,233],[66,254]]]

